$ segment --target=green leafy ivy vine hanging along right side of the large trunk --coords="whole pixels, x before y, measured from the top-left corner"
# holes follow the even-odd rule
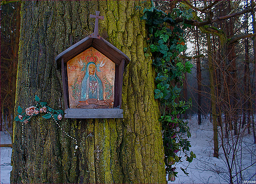
[[[186,102],[180,100],[181,87],[186,72],[191,72],[192,63],[183,62],[179,55],[187,49],[184,39],[184,29],[188,25],[176,24],[175,18],[184,16],[187,19],[192,17],[191,10],[173,9],[172,13],[164,13],[156,7],[143,10],[142,20],[146,21],[148,28],[149,47],[144,48],[144,56],[152,57],[156,70],[155,98],[160,100],[163,112],[160,122],[162,124],[162,137],[164,146],[165,171],[168,180],[175,181],[177,177],[176,164],[182,161],[178,155],[180,151],[185,153],[186,160],[192,162],[195,158],[190,151],[191,137],[188,122],[181,118],[187,109],[191,107],[191,100]],[[167,24],[168,23],[172,23]],[[187,168],[181,168],[186,172]]]

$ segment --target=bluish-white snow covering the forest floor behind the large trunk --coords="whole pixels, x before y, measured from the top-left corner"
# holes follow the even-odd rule
[[[186,176],[180,169],[180,167],[186,168],[186,161],[176,165],[178,178],[175,182],[168,182],[170,184],[228,184],[229,178],[227,175],[227,167],[224,161],[224,154],[220,148],[220,157],[213,157],[213,127],[209,119],[203,119],[201,125],[197,125],[196,117],[193,116],[189,120],[192,137],[191,151],[196,154],[196,158],[188,166],[187,172],[189,176]],[[10,144],[11,139],[7,132],[1,132],[1,144]],[[242,161],[242,169],[250,166],[256,161],[256,146],[253,144],[253,135],[245,134],[243,138],[243,149],[242,155],[240,152],[237,153],[237,170]],[[1,148],[0,150],[0,183],[10,183],[10,166],[11,160],[11,148]],[[235,170],[233,171],[235,174]],[[242,183],[254,183],[256,181],[256,164],[249,167],[242,172],[243,182]],[[239,175],[240,177],[240,175]],[[233,181],[237,178],[235,177]],[[234,182],[237,183],[237,182]],[[239,183],[239,182],[238,182]]]

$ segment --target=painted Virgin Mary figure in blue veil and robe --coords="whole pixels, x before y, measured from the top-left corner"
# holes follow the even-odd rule
[[[85,76],[81,83],[81,100],[86,101],[91,98],[103,100],[102,82],[96,74],[95,62],[87,63]]]

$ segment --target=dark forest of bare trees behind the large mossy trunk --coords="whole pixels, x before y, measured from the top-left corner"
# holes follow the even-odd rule
[[[190,49],[180,54],[191,61],[191,73],[183,78],[180,99],[192,99],[192,108],[183,117],[196,114],[210,117],[214,131],[215,157],[219,149],[235,153],[245,134],[255,142],[255,1],[152,1],[155,7],[171,13],[175,8],[192,10],[181,16],[184,41]],[[1,1],[1,130],[12,135],[18,63],[20,2]],[[186,12],[186,11],[184,11]],[[187,16],[187,17],[186,17]],[[185,27],[188,27],[185,29]],[[180,41],[180,40],[179,40]],[[182,83],[179,84],[182,87]],[[4,122],[4,123],[3,123]],[[232,142],[232,144],[227,144]],[[226,156],[230,182],[232,160]]]

